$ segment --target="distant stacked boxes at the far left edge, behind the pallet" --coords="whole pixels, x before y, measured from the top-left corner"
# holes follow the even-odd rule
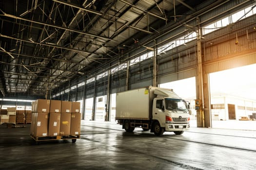
[[[16,124],[16,107],[7,107],[7,112],[1,110],[0,124],[2,123]]]

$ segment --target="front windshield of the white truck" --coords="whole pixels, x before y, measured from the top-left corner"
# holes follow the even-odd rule
[[[165,98],[165,107],[167,110],[173,111],[188,111],[187,103],[182,99]]]

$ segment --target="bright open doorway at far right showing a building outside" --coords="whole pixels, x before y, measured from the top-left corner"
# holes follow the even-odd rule
[[[256,64],[210,73],[213,128],[255,130]],[[247,118],[247,119],[241,119]]]

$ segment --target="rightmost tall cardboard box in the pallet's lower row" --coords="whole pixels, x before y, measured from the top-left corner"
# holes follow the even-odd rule
[[[80,135],[81,133],[81,114],[71,113],[70,135]]]

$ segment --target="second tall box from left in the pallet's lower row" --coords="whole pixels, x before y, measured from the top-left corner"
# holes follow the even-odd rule
[[[48,125],[48,136],[59,136],[59,127],[60,127],[60,113],[50,113],[49,125]]]

